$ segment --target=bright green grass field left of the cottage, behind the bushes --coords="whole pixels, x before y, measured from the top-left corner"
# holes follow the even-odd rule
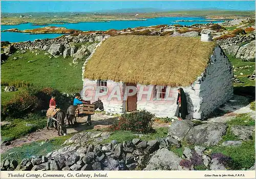
[[[37,53],[38,55],[35,55]],[[51,86],[61,92],[78,92],[78,86],[82,86],[81,66],[70,65],[73,58],[63,57],[49,58],[45,51],[30,52],[24,54],[15,52],[1,65],[2,81],[24,80],[39,86]],[[17,57],[17,60],[13,60]],[[32,61],[32,62],[28,62]],[[72,79],[72,80],[70,80]],[[8,95],[7,95],[8,96]],[[4,101],[5,99],[2,98]]]

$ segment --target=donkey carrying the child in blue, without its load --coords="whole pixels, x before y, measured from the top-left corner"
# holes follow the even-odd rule
[[[94,109],[96,110],[97,108],[99,108],[101,111],[104,110],[104,106],[103,103],[100,99],[98,99],[97,101],[92,103],[94,105]],[[75,117],[75,110],[76,110],[77,106],[71,105],[69,106],[68,110],[67,110],[67,120],[68,120],[68,124],[73,125],[76,122],[76,117]],[[91,116],[92,115],[88,115],[88,114],[83,114],[83,116],[88,116],[87,118],[87,124],[91,125]],[[74,122],[74,123],[73,123]]]

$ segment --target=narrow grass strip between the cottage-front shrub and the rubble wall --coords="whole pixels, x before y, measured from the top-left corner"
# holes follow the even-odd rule
[[[138,136],[136,133],[133,133],[131,131],[115,131],[111,133],[111,136],[102,141],[102,143],[109,143],[112,140],[116,140],[117,142],[123,142],[123,141],[132,141],[135,138],[139,138],[141,140],[149,141],[149,140],[155,140],[157,138],[164,138],[167,136],[168,133],[168,127],[160,127],[156,129],[155,133],[150,133],[146,135]]]

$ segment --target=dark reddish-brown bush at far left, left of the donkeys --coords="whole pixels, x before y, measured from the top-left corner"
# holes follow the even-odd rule
[[[35,111],[41,105],[41,100],[28,92],[18,93],[3,106],[2,113],[9,117],[22,117],[28,112]]]

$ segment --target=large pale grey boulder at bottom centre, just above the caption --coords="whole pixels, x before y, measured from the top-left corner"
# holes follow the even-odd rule
[[[143,170],[182,170],[181,158],[166,148],[157,150]]]

